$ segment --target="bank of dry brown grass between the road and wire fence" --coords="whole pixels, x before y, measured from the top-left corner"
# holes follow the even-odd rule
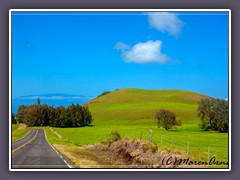
[[[112,143],[101,143],[88,148],[103,154],[121,168],[207,168],[206,165],[178,164],[186,159],[184,154],[156,149],[156,145],[136,139],[123,139]],[[191,161],[191,160],[190,160]]]

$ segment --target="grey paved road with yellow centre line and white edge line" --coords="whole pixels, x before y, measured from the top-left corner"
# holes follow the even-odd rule
[[[44,130],[32,129],[24,138],[12,143],[12,168],[69,168],[72,164],[48,143]]]

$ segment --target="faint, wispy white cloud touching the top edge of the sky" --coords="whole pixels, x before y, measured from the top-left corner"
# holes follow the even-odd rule
[[[148,18],[151,27],[161,32],[168,32],[175,37],[180,35],[184,24],[177,15],[169,12],[148,13]]]

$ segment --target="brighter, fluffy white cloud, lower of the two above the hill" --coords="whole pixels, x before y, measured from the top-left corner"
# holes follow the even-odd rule
[[[165,63],[168,56],[161,53],[161,41],[139,42],[133,47],[123,50],[122,56],[126,62],[132,63]]]

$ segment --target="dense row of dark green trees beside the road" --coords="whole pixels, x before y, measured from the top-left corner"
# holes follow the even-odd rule
[[[93,121],[88,106],[71,104],[68,107],[54,108],[46,104],[30,106],[21,105],[16,119],[28,126],[81,127],[90,125]]]

